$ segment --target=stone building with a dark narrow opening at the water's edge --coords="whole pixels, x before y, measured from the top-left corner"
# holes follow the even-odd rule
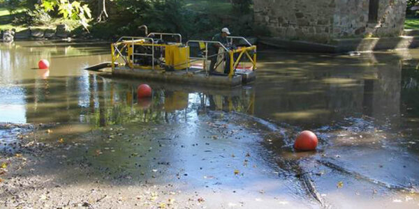
[[[402,35],[406,0],[255,0],[255,22],[270,36],[329,42]]]

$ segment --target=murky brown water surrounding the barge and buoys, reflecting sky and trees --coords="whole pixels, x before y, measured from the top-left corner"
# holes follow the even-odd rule
[[[192,187],[208,186],[213,179],[212,185],[223,185],[214,186],[220,190],[237,185],[243,185],[242,191],[270,187],[265,190],[298,207],[300,203],[293,199],[306,194],[292,177],[295,169],[289,163],[308,157],[300,164],[312,174],[325,173],[313,178],[332,206],[351,208],[355,202],[363,207],[418,206],[417,196],[411,201],[410,196],[405,198],[409,194],[328,167],[313,167],[312,160],[328,157],[348,171],[390,185],[419,185],[419,50],[337,56],[265,49],[258,53],[254,84],[212,89],[147,82],[154,88],[151,100],[137,100],[135,89],[141,81],[82,70],[109,61],[108,51],[106,43],[1,44],[0,122],[60,123],[47,140],[54,143],[65,137],[87,144],[86,153],[94,156],[87,157],[88,162],[98,173],[105,170],[120,176],[118,168],[122,168],[112,168],[123,164],[126,175],[157,183],[187,174]],[[40,59],[50,61],[50,70],[36,69]],[[281,137],[270,135],[273,130],[261,133],[247,128],[244,124],[253,122],[245,115],[263,118],[263,123],[281,130]],[[244,130],[223,137],[218,132],[222,125],[231,132]],[[304,129],[314,130],[321,138],[318,153],[292,152],[293,137]],[[237,141],[237,137],[245,140]],[[80,149],[73,159],[84,152]],[[182,155],[185,152],[191,155]],[[132,160],[143,153],[151,154],[145,160]],[[245,161],[247,153],[256,157]],[[230,155],[240,157],[233,162],[223,160]],[[122,158],[115,162],[112,156]],[[150,158],[156,162],[148,162]],[[242,168],[249,176],[240,179],[220,176],[244,162],[260,169]],[[202,167],[206,170],[200,171]],[[161,169],[160,175],[153,171]],[[200,176],[211,180],[198,180]],[[337,189],[340,181],[348,186]],[[297,195],[287,198],[288,194]]]

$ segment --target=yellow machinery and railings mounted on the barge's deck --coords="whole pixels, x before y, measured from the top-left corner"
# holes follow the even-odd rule
[[[175,38],[175,41],[167,42],[163,40],[163,36]],[[182,36],[179,33],[149,33],[147,37],[125,36],[111,45],[112,73],[115,73],[115,75],[138,75],[140,73],[138,70],[161,70],[161,72],[179,72],[173,77],[182,75],[182,73],[207,76],[210,72],[208,61],[211,60],[212,56],[219,56],[221,58],[225,57],[224,60],[229,61],[228,63],[225,62],[228,69],[228,73],[225,75],[228,75],[230,80],[236,75],[241,75],[244,82],[245,80],[250,82],[256,78],[254,73],[256,70],[256,46],[251,45],[243,37],[228,36],[227,38],[230,39],[230,42],[228,45],[223,45],[221,42],[206,40],[189,40],[186,44],[183,44]],[[244,42],[244,44],[241,44],[241,47],[233,47],[233,40]],[[220,45],[224,50],[221,50],[222,52],[219,52],[219,54],[208,54],[208,50],[214,44]],[[191,47],[197,47],[201,53],[198,56],[191,56]],[[124,63],[120,62],[121,59]],[[244,59],[247,59],[247,64],[251,64],[250,67],[240,64],[244,63]],[[117,61],[119,61],[118,66],[115,65]],[[202,62],[202,64],[199,62]],[[129,69],[137,71],[127,71]],[[154,78],[152,75],[147,76],[144,73],[141,76]],[[240,79],[233,79],[233,83],[230,83],[233,85],[237,82],[240,82]],[[228,82],[224,82],[224,84],[230,85]]]

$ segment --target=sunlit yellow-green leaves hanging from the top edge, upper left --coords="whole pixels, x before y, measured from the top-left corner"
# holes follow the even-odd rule
[[[89,26],[87,22],[91,18],[90,8],[80,1],[43,0],[41,6],[46,12],[58,10],[58,14],[62,15],[64,20],[78,20],[84,29]]]

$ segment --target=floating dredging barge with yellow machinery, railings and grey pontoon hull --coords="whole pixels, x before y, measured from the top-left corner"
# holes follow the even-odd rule
[[[230,87],[256,79],[256,45],[246,38],[228,36],[228,45],[208,40],[183,43],[179,33],[147,33],[147,27],[145,31],[145,37],[124,36],[111,44],[112,76]],[[220,50],[210,55],[208,49],[214,44],[221,46]],[[212,56],[217,56],[216,70],[221,69],[215,75],[209,70]]]

